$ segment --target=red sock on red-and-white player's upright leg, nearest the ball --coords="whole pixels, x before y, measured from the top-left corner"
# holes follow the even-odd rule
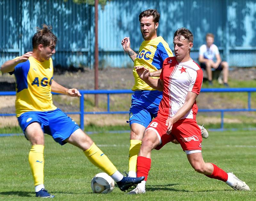
[[[137,177],[144,176],[144,181],[147,181],[148,172],[151,166],[151,159],[143,156],[137,158]]]

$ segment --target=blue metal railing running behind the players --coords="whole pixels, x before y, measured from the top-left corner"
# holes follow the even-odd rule
[[[132,94],[133,91],[129,89],[118,89],[118,90],[79,90],[81,93],[80,97],[80,111],[79,112],[66,112],[66,114],[79,114],[80,115],[80,127],[84,130],[84,114],[125,114],[128,111],[110,111],[109,96],[110,94]],[[256,88],[212,88],[212,89],[201,89],[203,93],[219,93],[219,92],[247,92],[248,93],[248,104],[247,108],[231,108],[231,109],[200,109],[198,112],[220,112],[221,114],[221,126],[219,130],[224,129],[224,112],[255,112],[256,108],[251,108],[251,93],[256,92]],[[57,94],[57,93],[52,93]],[[84,111],[84,94],[106,94],[107,95],[107,111],[104,112],[85,112]],[[13,96],[16,95],[15,91],[0,91],[0,96]],[[0,113],[0,116],[15,116],[10,113]]]

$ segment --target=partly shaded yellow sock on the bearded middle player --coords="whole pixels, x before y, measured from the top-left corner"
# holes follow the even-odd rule
[[[129,171],[137,171],[137,157],[140,151],[141,140],[130,140]]]

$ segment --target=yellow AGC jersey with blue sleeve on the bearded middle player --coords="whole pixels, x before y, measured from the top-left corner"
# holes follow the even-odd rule
[[[167,57],[173,57],[172,50],[168,43],[164,41],[163,37],[158,36],[141,43],[139,52],[134,60],[134,66],[144,66],[150,72],[153,72],[162,68],[164,59]],[[133,76],[135,84],[132,90],[155,90],[140,79],[135,68],[133,69]]]

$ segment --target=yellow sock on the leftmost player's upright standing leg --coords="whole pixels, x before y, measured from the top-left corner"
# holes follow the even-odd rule
[[[34,184],[44,184],[44,145],[33,145],[28,154],[28,162],[34,178]]]

